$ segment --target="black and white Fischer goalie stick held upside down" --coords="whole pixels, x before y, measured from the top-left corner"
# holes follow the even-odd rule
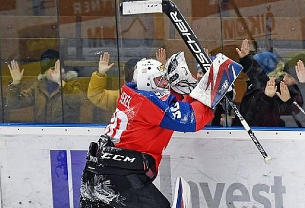
[[[194,58],[197,60],[198,64],[201,66],[202,71],[206,72],[209,70],[212,64],[212,60],[210,59],[208,54],[205,53],[193,30],[190,28],[190,26],[184,19],[178,7],[171,0],[129,0],[123,1],[120,4],[120,7],[123,15],[148,13],[166,14],[171,20],[171,22],[174,24],[176,30],[179,32],[184,43],[187,45]],[[257,137],[252,132],[251,128],[237,109],[237,106],[234,104],[234,102],[231,101],[231,99],[227,95],[225,95],[225,98],[234,109],[236,116],[241,120],[244,129],[249,134],[257,149],[259,149],[259,152],[263,156],[265,163],[268,163],[271,160],[271,157],[267,155],[266,151],[260,145]]]

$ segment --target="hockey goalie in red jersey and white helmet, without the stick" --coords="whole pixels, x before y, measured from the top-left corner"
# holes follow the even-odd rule
[[[174,54],[166,66],[155,59],[137,62],[133,81],[122,87],[104,134],[90,145],[79,208],[170,208],[152,183],[163,150],[174,131],[196,132],[213,119],[212,108],[241,70],[223,55],[215,60],[213,71],[198,84],[183,52]],[[193,98],[185,99],[190,93]],[[189,190],[179,181],[187,200],[175,200],[174,206],[186,208]],[[179,186],[177,190],[182,193]]]

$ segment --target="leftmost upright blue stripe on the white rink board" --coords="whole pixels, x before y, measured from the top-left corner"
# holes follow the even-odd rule
[[[53,208],[70,208],[67,152],[51,150]]]

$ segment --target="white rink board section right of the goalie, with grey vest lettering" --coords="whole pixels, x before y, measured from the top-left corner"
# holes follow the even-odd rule
[[[170,155],[171,180],[182,176],[193,184],[192,196],[199,197],[193,208],[198,203],[201,208],[303,207],[305,141],[263,140],[262,145],[273,156],[268,164],[251,141],[240,139],[178,138],[164,154]],[[233,195],[242,195],[240,201]],[[229,206],[232,201],[235,207]]]

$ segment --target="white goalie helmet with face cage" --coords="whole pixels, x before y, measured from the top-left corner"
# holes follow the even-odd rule
[[[164,64],[155,59],[141,59],[137,62],[133,77],[137,83],[137,89],[146,91],[168,90],[169,83],[166,87],[158,87],[155,83],[156,77],[167,79]]]

